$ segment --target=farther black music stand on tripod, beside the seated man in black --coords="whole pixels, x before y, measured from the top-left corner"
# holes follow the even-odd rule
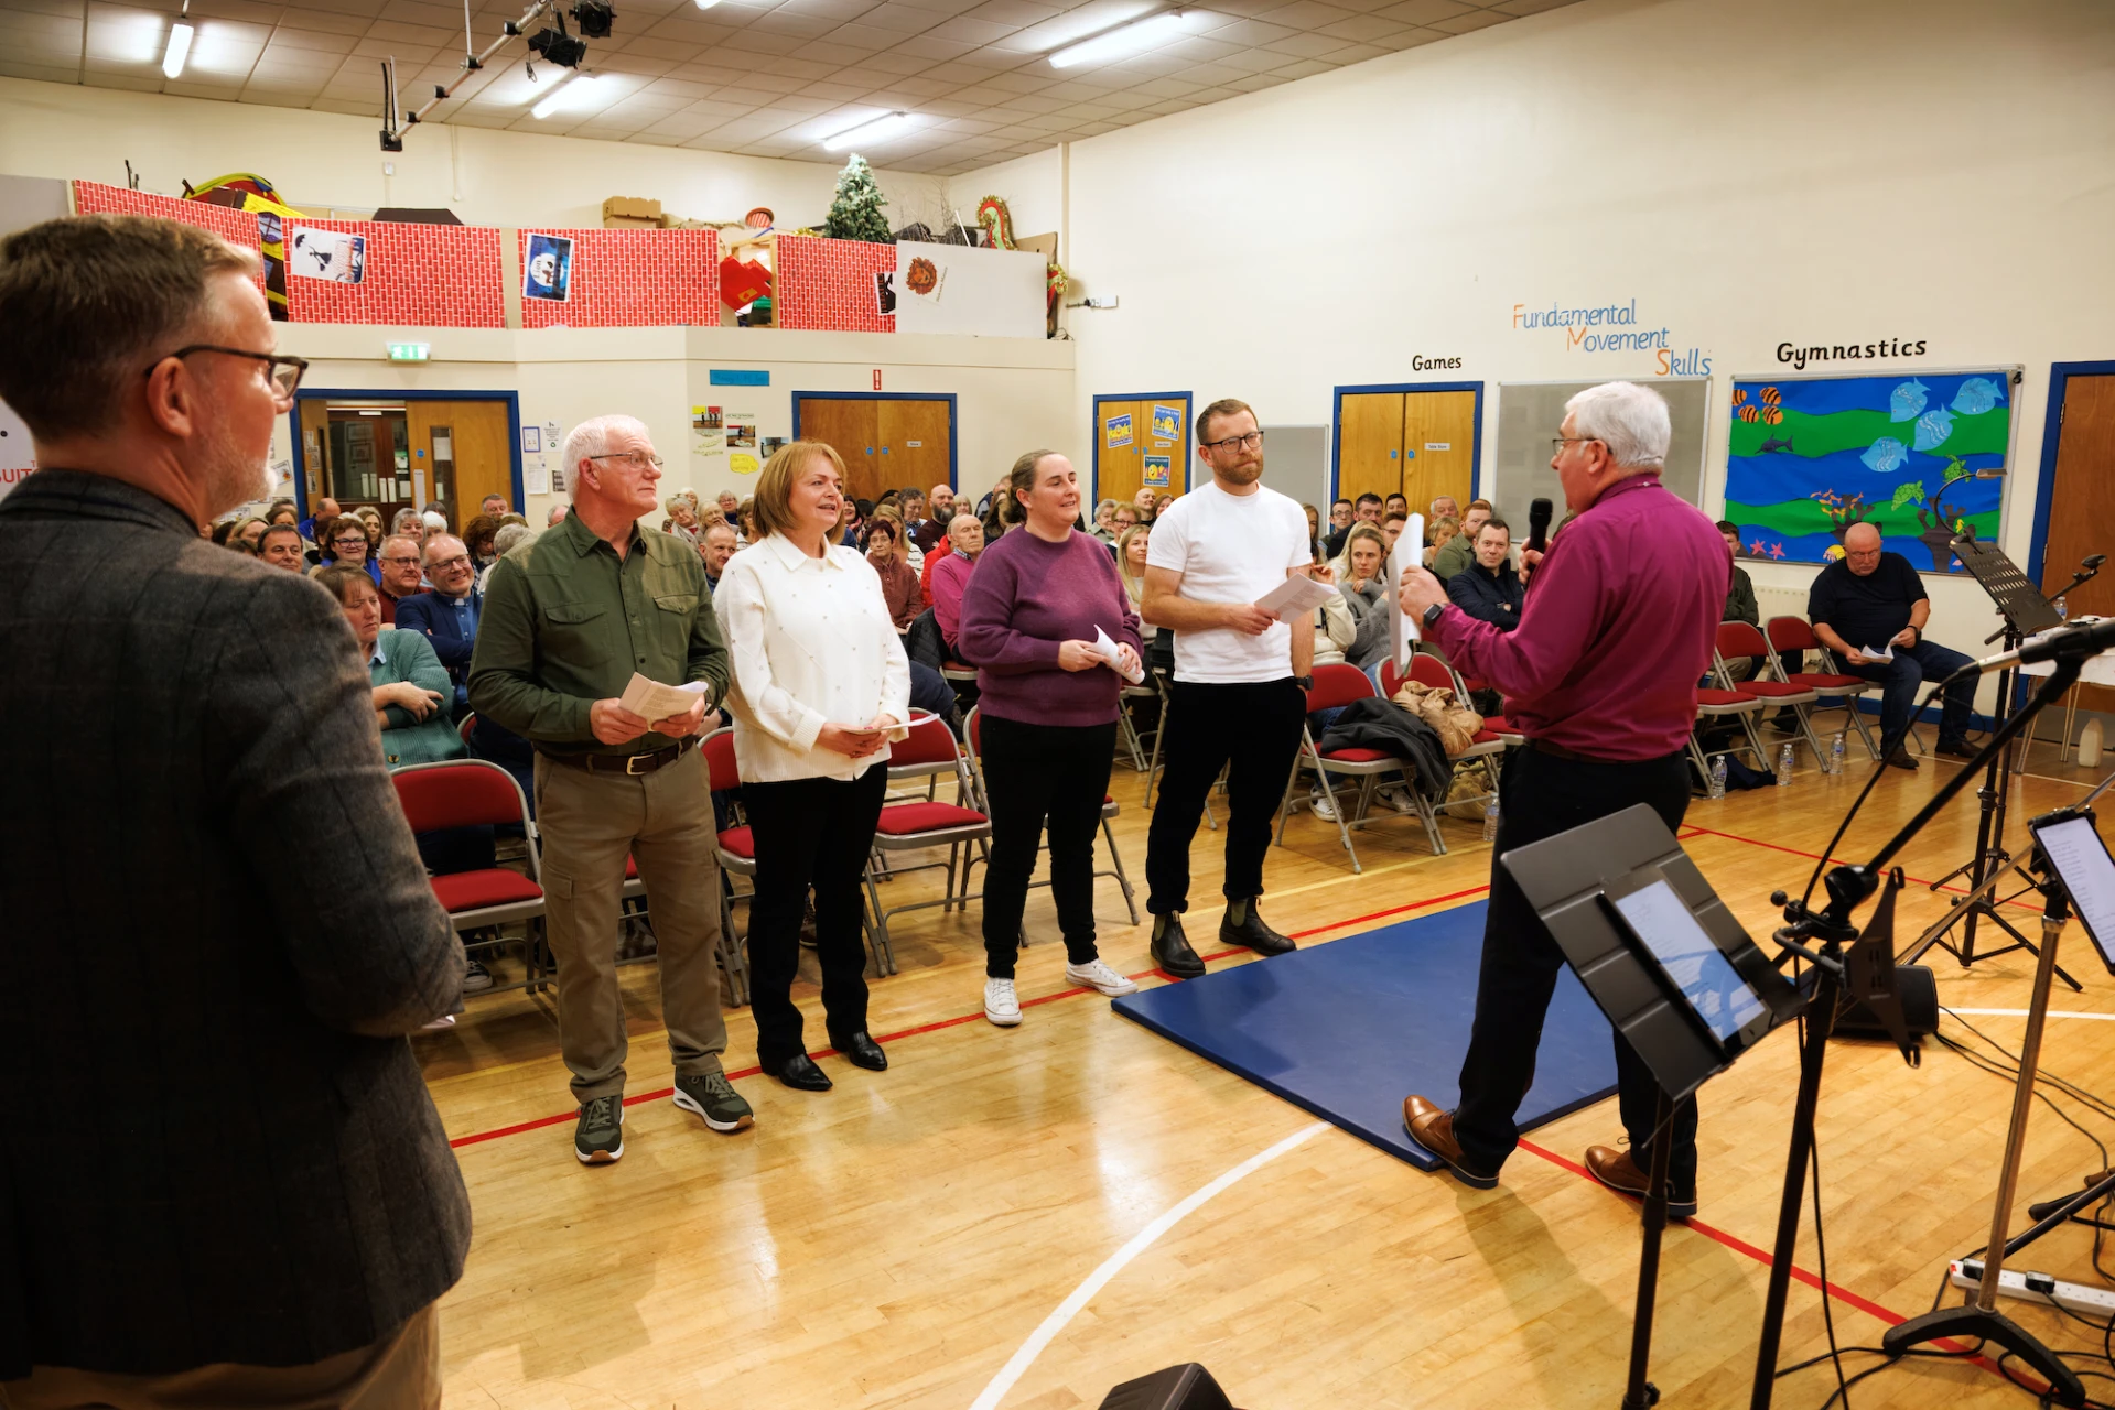
[[[1999,550],[1997,543],[1980,543],[1971,535],[1963,535],[1952,541],[1952,552],[1967,571],[1984,586],[1990,600],[1997,602],[1999,615],[2003,615],[2005,626],[1999,628],[1997,636],[2005,638],[2005,649],[2016,651],[2022,641],[2037,632],[2047,632],[2064,624],[2056,615],[2041,590],[2028,581],[2026,573],[2020,571],[2011,558]],[[1984,643],[1988,645],[1988,643]],[[2003,725],[2011,715],[2013,704],[2013,672],[2003,670],[1997,679],[1997,725]],[[2026,886],[2022,886],[2013,901],[2030,890],[2035,890],[2035,879],[2013,867],[2011,852],[2005,850],[2005,782],[2011,778],[2011,740],[2005,742],[2005,750],[1994,755],[1984,769],[1984,786],[1975,791],[1980,799],[1980,816],[1975,820],[1975,856],[1961,862],[1944,877],[1931,884],[1931,890],[1939,890],[1954,882],[1956,877],[1969,877],[1969,890],[1965,896],[1954,901],[1946,915],[1942,915],[1929,930],[1916,936],[1908,953],[1901,958],[1904,964],[1916,964],[1918,958],[1933,945],[1946,947],[1946,951],[1961,962],[1963,968],[1975,964],[1975,960],[1994,960],[1997,956],[2009,956],[2016,949],[2026,953],[2039,953],[2003,911],[1999,911],[1997,888],[2003,884],[2007,873],[2020,875]],[[1988,920],[1992,926],[2011,936],[2009,945],[1999,949],[1975,953],[1975,922]],[[1961,926],[1958,943],[1948,941],[1948,932]],[[2071,985],[2079,987],[2079,981],[2064,970],[2056,970],[2058,977]]]

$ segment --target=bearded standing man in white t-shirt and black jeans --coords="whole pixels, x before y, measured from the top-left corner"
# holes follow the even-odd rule
[[[1153,520],[1142,615],[1176,632],[1167,698],[1167,772],[1146,833],[1153,962],[1178,979],[1203,975],[1182,934],[1189,850],[1206,795],[1227,772],[1227,915],[1222,945],[1282,956],[1292,941],[1256,915],[1271,816],[1301,746],[1313,632],[1280,621],[1256,598],[1307,575],[1307,514],[1263,486],[1263,431],[1246,402],[1197,414],[1197,459],[1212,471]],[[1305,624],[1303,624],[1305,626]]]

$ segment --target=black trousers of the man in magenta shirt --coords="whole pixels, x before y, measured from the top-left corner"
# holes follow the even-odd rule
[[[1639,763],[1559,759],[1527,746],[1506,759],[1500,780],[1497,846],[1491,850],[1491,911],[1483,926],[1483,972],[1476,979],[1476,1025],[1461,1059],[1461,1106],[1453,1131],[1470,1169],[1497,1173],[1521,1144],[1514,1112],[1535,1080],[1542,1019],[1557,991],[1565,956],[1527,896],[1497,865],[1510,848],[1555,837],[1595,818],[1645,803],[1669,831],[1681,829],[1690,808],[1686,755]],[[1616,1091],[1631,1158],[1650,1161],[1660,1087],[1631,1044],[1616,1034]],[[1696,1194],[1696,1099],[1675,1108],[1669,1125],[1669,1184],[1675,1199]]]

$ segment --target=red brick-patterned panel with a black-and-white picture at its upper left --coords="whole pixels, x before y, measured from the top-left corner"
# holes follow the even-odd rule
[[[499,230],[374,220],[290,220],[311,230],[345,230],[368,241],[360,283],[288,273],[296,323],[398,323],[415,328],[505,328]]]

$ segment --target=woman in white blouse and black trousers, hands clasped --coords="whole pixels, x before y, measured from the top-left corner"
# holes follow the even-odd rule
[[[728,560],[713,594],[734,657],[728,712],[757,850],[757,1061],[799,1091],[831,1084],[808,1057],[791,998],[810,888],[829,1044],[857,1068],[888,1065],[867,1034],[861,873],[888,786],[888,740],[909,734],[912,670],[882,579],[857,548],[833,543],[842,512],[838,452],[814,440],[783,446],[757,476],[757,543]]]

